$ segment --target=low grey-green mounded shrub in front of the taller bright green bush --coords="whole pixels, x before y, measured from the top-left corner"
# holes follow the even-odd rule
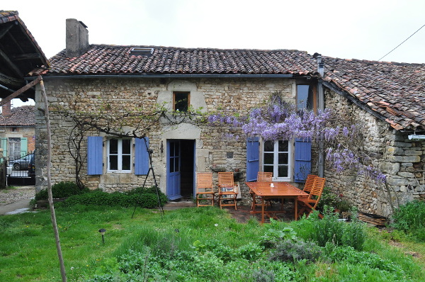
[[[322,251],[317,244],[311,241],[305,242],[302,239],[297,241],[285,240],[276,246],[276,250],[271,253],[270,260],[275,261],[300,261],[306,259],[307,261],[316,261]]]

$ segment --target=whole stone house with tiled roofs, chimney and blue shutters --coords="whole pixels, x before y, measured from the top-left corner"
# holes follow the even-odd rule
[[[395,70],[397,74],[393,74]],[[50,107],[72,112],[103,109],[108,115],[108,111],[137,111],[156,104],[183,112],[188,106],[208,113],[217,109],[247,111],[277,91],[288,103],[307,101],[305,106],[314,110],[346,111],[365,124],[370,154],[388,174],[396,194],[404,201],[422,195],[423,142],[408,137],[425,130],[422,64],[340,60],[297,50],[89,45],[84,23],[68,19],[67,49],[50,59],[50,67],[35,74],[45,81]],[[397,81],[392,84],[393,79]],[[419,106],[415,99],[421,102]],[[35,103],[43,107],[39,87]],[[50,118],[52,183],[73,181],[76,167],[68,146],[75,123],[58,111],[51,111]],[[307,142],[227,140],[221,133],[194,123],[149,128],[155,175],[171,200],[193,195],[196,171],[237,169],[242,201],[249,201],[244,181],[265,169],[263,154],[267,152],[284,156],[267,168],[273,170],[276,181],[302,181],[297,179],[297,169],[300,164],[311,165],[313,173],[327,177],[327,185],[348,196],[361,211],[389,212],[373,181],[352,174],[336,175],[317,165],[317,156],[311,154]],[[36,188],[40,189],[46,186],[42,111],[36,111],[35,136]],[[80,176],[86,186],[125,191],[142,185],[149,167],[142,140],[95,131],[86,132],[85,138],[81,154],[86,161]],[[148,181],[152,184],[152,177]]]

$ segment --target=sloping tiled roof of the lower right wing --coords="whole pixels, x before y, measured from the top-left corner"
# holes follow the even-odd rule
[[[324,80],[380,113],[396,130],[425,130],[425,64],[323,57]]]

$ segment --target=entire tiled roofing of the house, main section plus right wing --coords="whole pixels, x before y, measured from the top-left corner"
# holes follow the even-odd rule
[[[153,53],[130,55],[132,47],[153,48]],[[361,101],[393,128],[425,130],[425,64],[322,60],[325,81]],[[50,59],[50,69],[42,74],[316,75],[317,61],[297,50],[90,45],[80,57],[66,57],[63,50]]]

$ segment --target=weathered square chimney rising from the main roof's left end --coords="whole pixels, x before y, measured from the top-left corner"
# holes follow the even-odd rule
[[[67,57],[78,57],[89,49],[89,30],[82,21],[67,18]]]

